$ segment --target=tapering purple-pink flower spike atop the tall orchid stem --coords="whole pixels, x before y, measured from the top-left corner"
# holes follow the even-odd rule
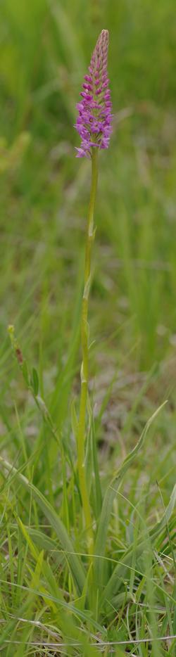
[[[77,158],[91,158],[92,148],[108,148],[112,132],[112,103],[108,88],[108,30],[102,30],[96,42],[89,65],[89,75],[84,75],[82,100],[77,103],[78,116],[75,124],[81,138]],[[97,88],[98,87],[98,88]]]

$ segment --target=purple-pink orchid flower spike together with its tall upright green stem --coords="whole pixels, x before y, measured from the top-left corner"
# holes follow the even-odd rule
[[[84,442],[87,410],[87,392],[89,378],[89,343],[88,343],[88,302],[91,283],[91,257],[94,241],[94,207],[97,186],[97,156],[101,148],[108,148],[112,132],[111,122],[111,95],[108,88],[108,30],[102,30],[96,42],[89,65],[89,74],[84,76],[82,100],[77,103],[77,122],[75,127],[81,137],[81,146],[77,148],[77,158],[86,157],[92,161],[92,182],[87,217],[87,234],[84,264],[84,291],[82,297],[81,340],[82,340],[82,367],[81,367],[81,395],[80,416],[77,428],[77,457],[80,479],[80,491],[84,520],[87,529],[89,552],[92,554],[92,518],[89,506],[89,495],[86,485],[84,467]]]

